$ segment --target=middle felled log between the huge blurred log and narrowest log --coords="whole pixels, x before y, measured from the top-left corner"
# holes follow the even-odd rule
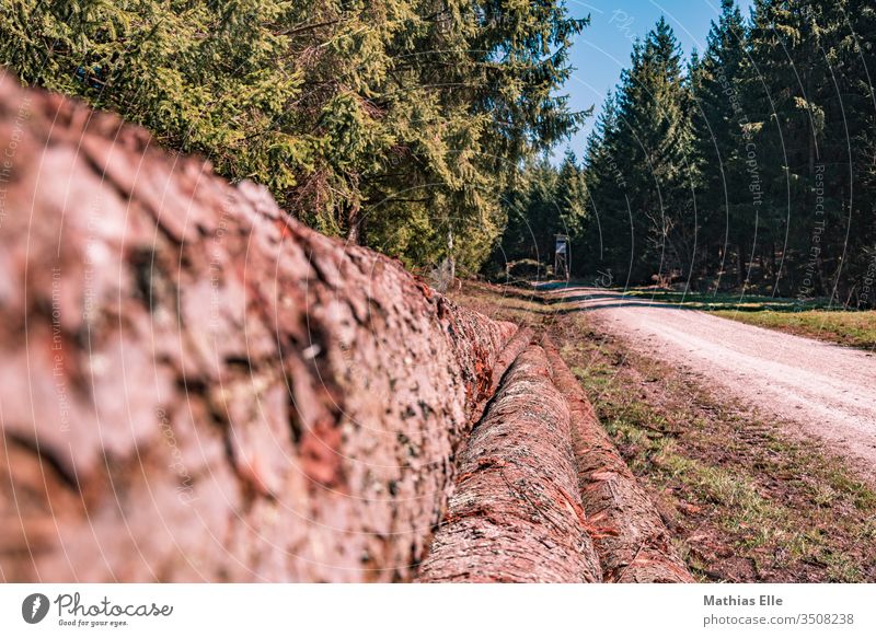
[[[599,581],[569,433],[568,406],[544,351],[530,346],[462,452],[419,580]]]

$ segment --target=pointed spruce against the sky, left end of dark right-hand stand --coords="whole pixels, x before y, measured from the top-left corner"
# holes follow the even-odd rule
[[[643,281],[690,267],[689,235],[695,228],[690,99],[678,40],[662,18],[634,45],[631,61],[618,89],[616,123],[600,134],[600,154],[609,158],[614,181],[627,185],[623,202],[616,196],[602,201],[593,196],[597,189],[588,188],[595,215],[600,222],[608,218],[602,236],[612,258],[607,266],[631,281]],[[592,175],[592,158],[588,164],[587,174]],[[624,225],[629,231],[616,232]]]

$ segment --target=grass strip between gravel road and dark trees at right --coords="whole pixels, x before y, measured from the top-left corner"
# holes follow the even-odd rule
[[[837,343],[876,349],[876,311],[831,309],[827,299],[781,299],[758,294],[675,292],[633,288],[624,296],[673,303],[711,312],[749,325]]]

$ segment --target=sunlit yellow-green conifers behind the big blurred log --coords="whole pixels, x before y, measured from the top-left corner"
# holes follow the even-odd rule
[[[0,62],[267,185],[320,230],[477,268],[580,121],[563,0],[11,0]]]

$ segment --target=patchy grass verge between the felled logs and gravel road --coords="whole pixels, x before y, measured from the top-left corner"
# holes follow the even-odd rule
[[[876,491],[781,424],[634,354],[586,313],[465,286],[454,300],[546,329],[703,581],[876,581]]]

